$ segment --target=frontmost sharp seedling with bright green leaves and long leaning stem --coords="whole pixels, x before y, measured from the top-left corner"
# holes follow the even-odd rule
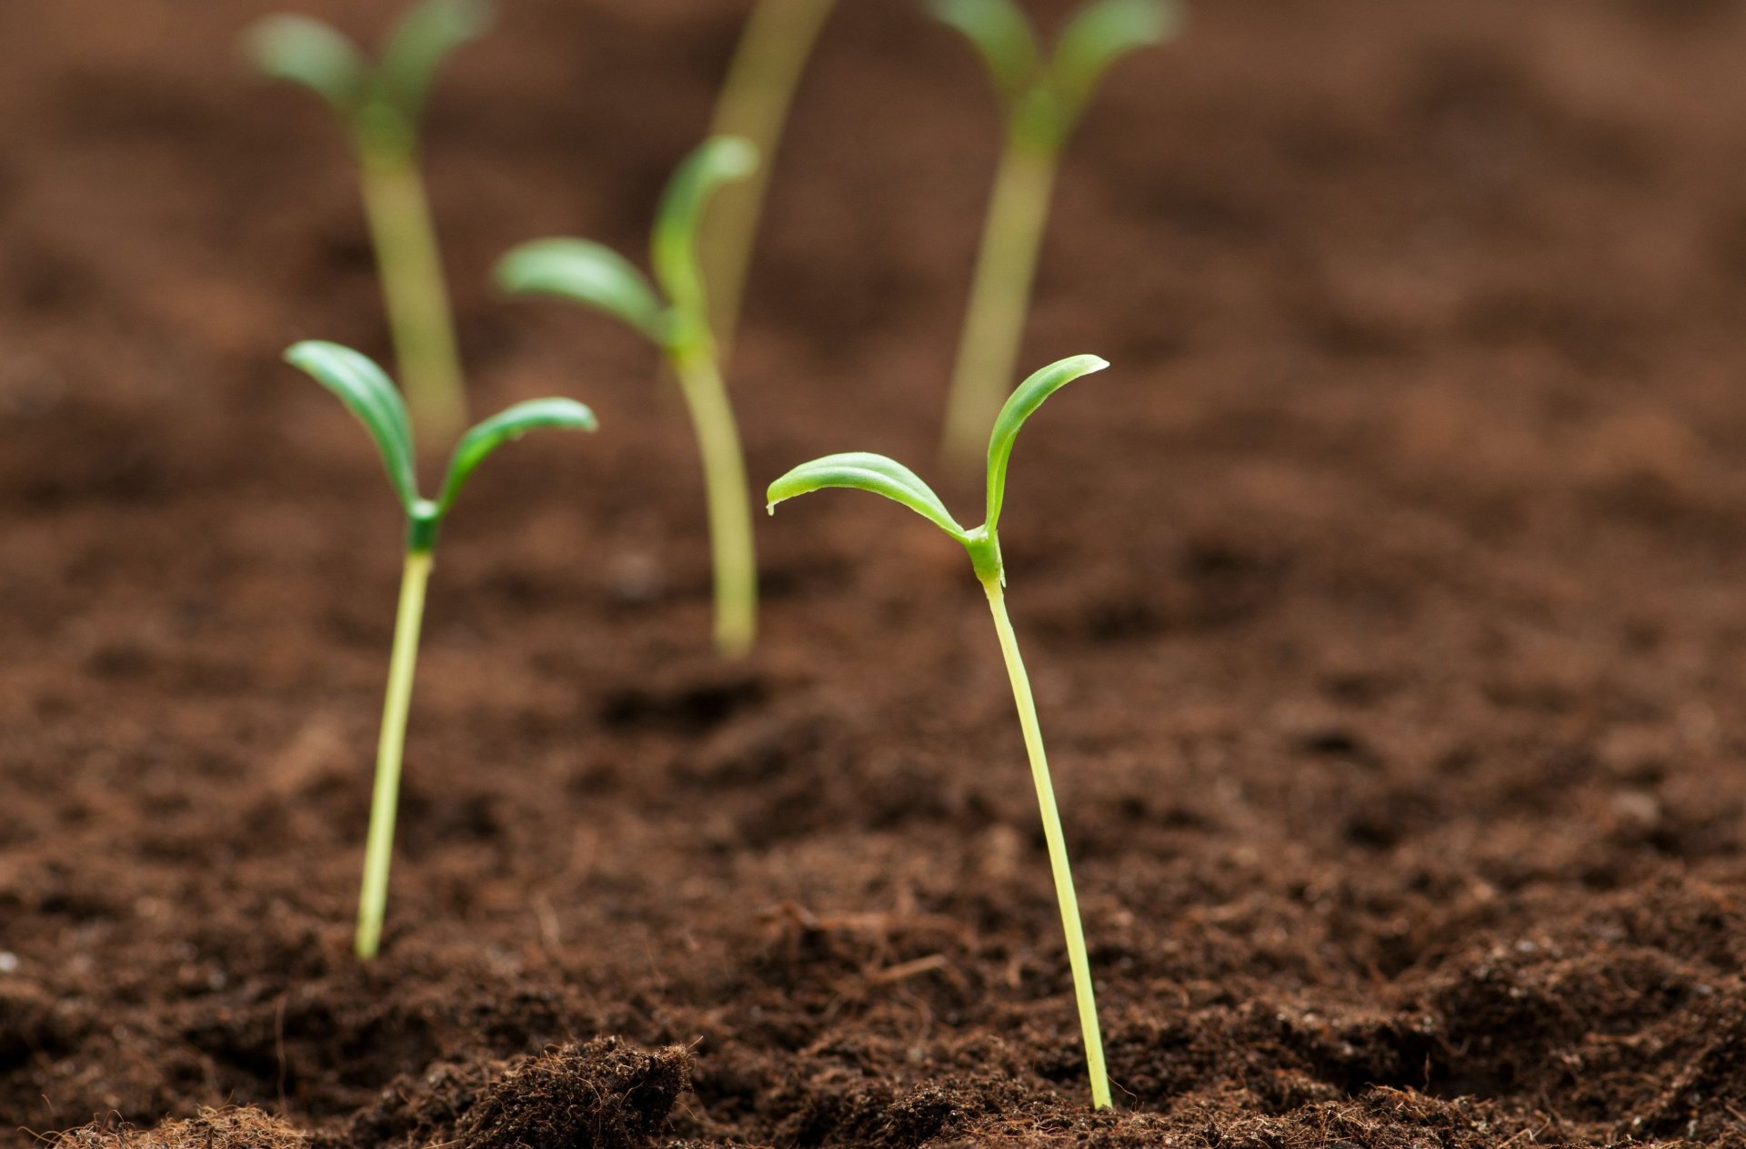
[[[1037,723],[1037,704],[1030,693],[1030,678],[1018,653],[1013,620],[1006,613],[1006,566],[1000,561],[1000,506],[1006,498],[1006,464],[1013,456],[1013,442],[1025,419],[1058,389],[1096,370],[1109,367],[1095,354],[1076,354],[1044,367],[1018,386],[993,421],[988,438],[988,503],[980,527],[962,527],[934,491],[915,471],[882,454],[833,454],[812,463],[801,463],[770,484],[770,513],[782,499],[824,487],[871,491],[903,503],[922,519],[955,538],[969,552],[971,569],[983,585],[993,629],[1000,637],[1000,653],[1013,683],[1013,700],[1018,704],[1018,725],[1025,733],[1025,753],[1030,758],[1030,777],[1037,788],[1037,807],[1042,810],[1042,836],[1049,849],[1049,868],[1055,873],[1055,898],[1062,910],[1062,929],[1067,934],[1067,964],[1074,974],[1074,995],[1079,1001],[1079,1029],[1086,1042],[1086,1070],[1091,1077],[1091,1104],[1109,1109],[1109,1072],[1103,1069],[1103,1039],[1098,1035],[1096,997],[1091,992],[1091,964],[1086,957],[1084,927],[1079,924],[1079,898],[1074,894],[1074,875],[1067,864],[1067,840],[1062,835],[1062,815],[1055,807],[1055,786],[1049,782],[1049,761],[1042,753],[1042,728]]]

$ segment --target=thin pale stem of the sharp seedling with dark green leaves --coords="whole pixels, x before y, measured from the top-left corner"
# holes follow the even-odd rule
[[[419,625],[424,620],[424,585],[431,554],[409,550],[400,578],[400,613],[395,616],[395,653],[388,662],[388,700],[382,735],[375,747],[375,793],[370,798],[370,836],[363,847],[363,889],[358,894],[358,957],[375,957],[382,945],[388,908],[388,863],[395,852],[395,808],[400,805],[400,760],[407,747],[407,709],[412,705],[412,671],[419,660]]]

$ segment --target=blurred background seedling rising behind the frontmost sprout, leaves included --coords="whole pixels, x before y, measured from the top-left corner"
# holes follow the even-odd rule
[[[1179,9],[1173,0],[1093,0],[1044,58],[1014,0],[932,0],[931,7],[981,56],[1006,117],[946,405],[943,452],[967,468],[1018,361],[1062,148],[1109,66],[1170,37]]]

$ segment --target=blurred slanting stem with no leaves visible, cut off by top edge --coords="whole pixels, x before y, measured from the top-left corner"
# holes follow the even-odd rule
[[[758,169],[746,180],[719,189],[704,217],[704,278],[709,281],[714,313],[711,321],[723,361],[730,356],[739,328],[746,274],[782,127],[807,58],[835,3],[836,0],[758,0],[716,100],[711,134],[744,136],[760,155]]]

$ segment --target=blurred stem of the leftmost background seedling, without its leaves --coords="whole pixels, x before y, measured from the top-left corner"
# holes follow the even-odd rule
[[[417,430],[447,442],[466,424],[466,389],[417,152],[363,143],[360,166],[400,386]]]

